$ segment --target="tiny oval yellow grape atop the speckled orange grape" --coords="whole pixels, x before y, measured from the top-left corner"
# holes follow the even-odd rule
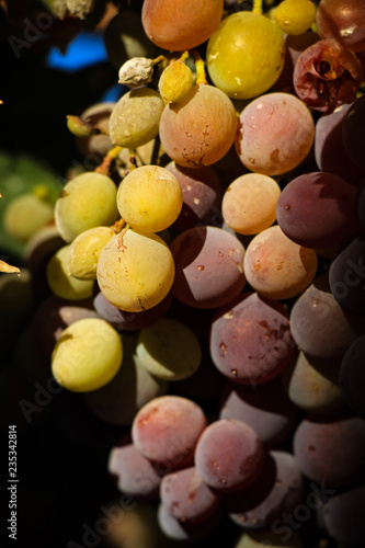
[[[193,72],[182,60],[171,62],[159,80],[159,91],[168,103],[179,103],[194,83]]]

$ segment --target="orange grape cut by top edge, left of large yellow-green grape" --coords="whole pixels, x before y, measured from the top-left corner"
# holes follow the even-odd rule
[[[223,0],[145,0],[141,21],[147,36],[163,49],[180,52],[203,44],[219,25]]]

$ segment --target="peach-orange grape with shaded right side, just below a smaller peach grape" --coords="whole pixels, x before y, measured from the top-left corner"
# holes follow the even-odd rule
[[[317,254],[289,240],[278,226],[263,230],[251,240],[243,269],[247,281],[260,295],[288,299],[312,282]]]

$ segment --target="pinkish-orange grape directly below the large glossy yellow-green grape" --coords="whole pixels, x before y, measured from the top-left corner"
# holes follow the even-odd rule
[[[289,93],[267,93],[241,112],[236,149],[249,170],[280,175],[307,157],[313,140],[315,124],[306,105]]]

